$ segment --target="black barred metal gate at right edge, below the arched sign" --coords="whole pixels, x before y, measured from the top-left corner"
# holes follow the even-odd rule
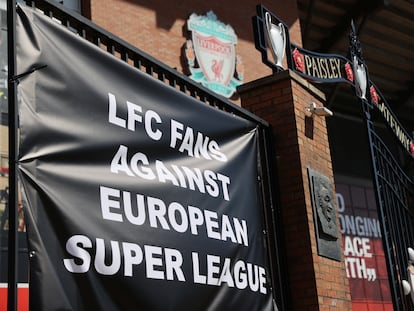
[[[383,232],[384,251],[395,310],[414,310],[403,280],[410,282],[413,264],[409,248],[414,247],[414,184],[377,134],[365,105],[366,125],[372,157],[374,188]]]

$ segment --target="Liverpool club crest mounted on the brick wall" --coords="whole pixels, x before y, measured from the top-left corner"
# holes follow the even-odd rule
[[[190,78],[231,97],[242,83],[244,72],[241,57],[236,56],[237,36],[233,28],[218,21],[211,11],[206,16],[191,14],[187,27],[192,32],[185,47]]]

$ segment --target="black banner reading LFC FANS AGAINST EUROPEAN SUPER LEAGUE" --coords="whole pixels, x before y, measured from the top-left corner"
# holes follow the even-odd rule
[[[31,310],[273,310],[255,124],[18,15]]]

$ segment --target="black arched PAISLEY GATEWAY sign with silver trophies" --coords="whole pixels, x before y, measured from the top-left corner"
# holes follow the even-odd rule
[[[356,95],[379,110],[401,146],[414,159],[414,138],[408,133],[391,111],[385,97],[369,79],[368,68],[362,59],[355,25],[351,23],[350,53],[345,57],[336,54],[317,53],[306,50],[290,42],[289,27],[263,5],[257,5],[257,16],[253,18],[255,46],[262,55],[262,61],[273,72],[284,70],[282,59],[287,67],[306,80],[316,83],[347,83],[355,88]],[[284,49],[284,51],[283,51]],[[268,50],[273,56],[269,57]],[[355,51],[355,52],[353,52]]]

